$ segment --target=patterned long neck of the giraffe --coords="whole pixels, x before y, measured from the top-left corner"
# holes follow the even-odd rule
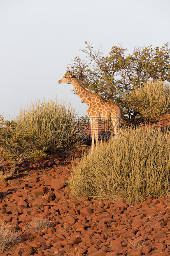
[[[74,86],[77,95],[79,95],[79,97],[89,106],[91,93],[88,90],[86,90],[86,88],[84,88],[84,86],[80,83],[77,77],[72,77],[71,83]]]

